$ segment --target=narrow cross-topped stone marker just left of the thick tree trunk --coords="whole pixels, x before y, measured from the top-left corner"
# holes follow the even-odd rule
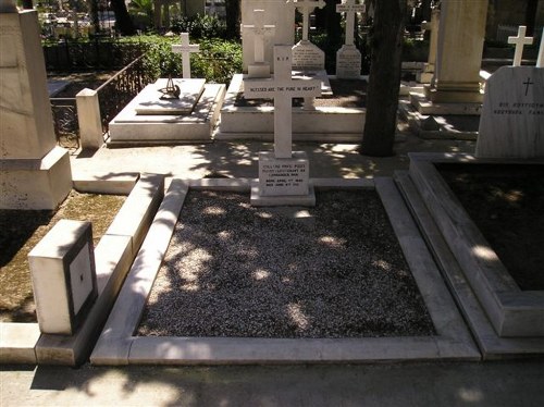
[[[355,14],[363,13],[364,4],[356,4],[355,0],[343,0],[336,4],[337,13],[346,15],[346,38],[336,52],[336,76],[343,79],[358,79],[361,75],[361,53],[354,45]]]

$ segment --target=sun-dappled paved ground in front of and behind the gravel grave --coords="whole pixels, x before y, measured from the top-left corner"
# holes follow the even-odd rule
[[[100,149],[72,157],[76,176],[157,172],[257,177],[261,143]],[[371,177],[408,168],[409,151],[472,152],[472,141],[401,135],[396,156],[353,145],[296,145],[313,177]],[[0,406],[542,406],[544,359],[471,363],[276,367],[0,367]]]

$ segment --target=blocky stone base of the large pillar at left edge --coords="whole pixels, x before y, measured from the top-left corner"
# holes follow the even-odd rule
[[[72,190],[70,157],[61,147],[41,160],[0,160],[0,209],[55,209]]]

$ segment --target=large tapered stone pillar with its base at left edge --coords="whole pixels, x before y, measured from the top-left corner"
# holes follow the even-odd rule
[[[0,13],[0,208],[54,209],[72,189],[57,146],[38,15]]]

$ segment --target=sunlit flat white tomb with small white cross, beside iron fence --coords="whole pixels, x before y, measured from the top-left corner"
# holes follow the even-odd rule
[[[108,146],[211,143],[225,85],[190,77],[190,54],[199,52],[182,33],[183,78],[159,78],[147,85],[111,122]],[[162,95],[162,96],[161,96]]]

